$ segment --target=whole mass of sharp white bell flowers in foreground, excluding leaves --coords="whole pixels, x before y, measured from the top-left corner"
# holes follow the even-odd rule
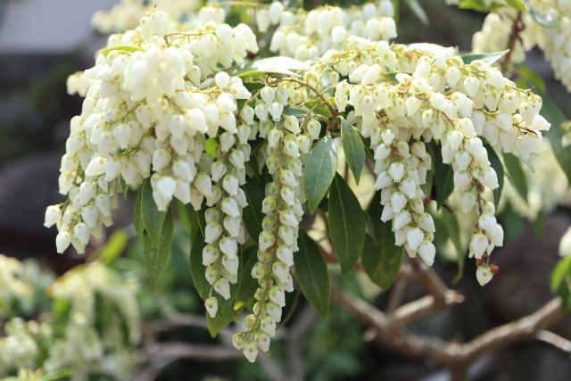
[[[176,199],[203,212],[202,265],[210,286],[204,305],[214,318],[240,276],[244,184],[266,169],[265,217],[260,236],[251,236],[259,249],[251,276],[259,287],[246,330],[233,339],[253,361],[258,349],[268,351],[285,292],[294,290],[290,269],[308,154],[319,137],[338,136],[343,118],[373,152],[384,205],[377,218],[390,221],[397,245],[429,265],[435,228],[422,186],[433,176],[434,159],[452,166],[462,209],[478,214],[469,252],[478,261],[478,280],[487,283],[503,230],[484,199],[486,188],[499,185],[484,140],[529,157],[550,127],[538,114],[541,98],[484,62],[463,62],[451,48],[390,45],[396,33],[387,0],[310,12],[261,4],[259,31],[277,26],[270,50],[311,61],[299,62],[294,76],[269,70],[244,83],[228,69],[258,53],[256,37],[246,24],[225,24],[220,9],[203,7],[201,25],[191,28],[155,8],[136,29],[109,37],[94,68],[69,79],[69,91],[85,101],[70,122],[62,157],[59,185],[68,200],[46,210],[46,227],[59,230],[57,251],[71,244],[84,253],[90,236],[102,236],[103,225],[112,224],[121,182],[145,181],[158,211]],[[331,116],[316,112],[319,105]],[[216,142],[215,154],[207,152],[207,139]],[[442,147],[437,158],[427,149],[434,142]]]

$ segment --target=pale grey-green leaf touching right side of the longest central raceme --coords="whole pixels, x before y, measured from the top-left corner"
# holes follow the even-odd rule
[[[310,151],[305,163],[303,180],[311,214],[318,209],[319,202],[327,194],[336,170],[337,151],[333,137],[323,137]]]

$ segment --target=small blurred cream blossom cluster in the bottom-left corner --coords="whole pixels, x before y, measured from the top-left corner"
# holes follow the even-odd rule
[[[0,375],[21,368],[37,366],[40,347],[39,340],[47,340],[52,336],[52,327],[35,320],[24,321],[14,318],[4,325],[5,336],[0,338]]]

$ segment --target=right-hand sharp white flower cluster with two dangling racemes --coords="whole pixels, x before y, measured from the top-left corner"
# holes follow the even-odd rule
[[[351,57],[357,66],[349,74],[352,84],[336,85],[335,104],[346,104],[360,117],[358,125],[375,150],[376,188],[382,189],[383,220],[393,220],[396,244],[405,244],[410,255],[434,261],[434,221],[424,212],[423,193],[431,159],[422,142],[442,144],[442,161],[454,170],[454,190],[460,192],[462,209],[477,206],[480,218],[473,230],[470,256],[486,258],[501,246],[503,229],[494,217],[492,203],[482,198],[484,186],[498,186],[480,137],[495,149],[528,158],[542,148],[542,131],[550,124],[539,115],[542,100],[518,89],[501,72],[481,61],[464,64],[451,50],[428,53],[415,47],[369,42],[362,63],[360,51],[327,52],[324,62],[335,64]],[[389,66],[386,57],[393,57]],[[327,58],[327,61],[326,61]],[[401,65],[404,62],[404,65]],[[411,72],[387,82],[384,68]],[[445,92],[443,91],[444,89]],[[484,108],[485,105],[485,108]],[[478,267],[478,279],[487,283],[492,273],[486,263]]]

